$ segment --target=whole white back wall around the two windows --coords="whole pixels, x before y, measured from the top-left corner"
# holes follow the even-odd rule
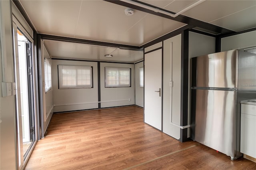
[[[58,89],[58,65],[92,66],[93,88]],[[131,87],[105,87],[105,67],[131,68]],[[98,62],[52,60],[52,94],[54,112],[97,109]],[[101,108],[134,105],[134,95],[134,64],[100,62]]]

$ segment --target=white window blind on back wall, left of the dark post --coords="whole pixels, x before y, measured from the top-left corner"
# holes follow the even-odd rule
[[[92,88],[92,67],[58,65],[59,89]]]

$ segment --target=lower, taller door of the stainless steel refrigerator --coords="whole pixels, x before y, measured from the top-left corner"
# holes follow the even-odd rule
[[[192,95],[192,138],[235,158],[237,91],[193,89]]]

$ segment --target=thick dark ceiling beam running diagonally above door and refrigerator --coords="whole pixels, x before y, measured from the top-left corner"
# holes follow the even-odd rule
[[[226,28],[222,28],[222,27],[219,27],[219,26],[216,26],[216,25],[213,25],[213,24],[202,22],[200,20],[196,20],[194,18],[190,18],[190,17],[183,16],[183,15],[179,15],[179,16],[176,16],[174,18],[174,17],[168,16],[166,14],[162,14],[160,12],[154,12],[152,10],[148,10],[146,8],[143,8],[143,7],[140,7],[140,6],[136,6],[136,5],[133,5],[133,4],[129,4],[127,2],[123,2],[123,1],[120,1],[120,0],[105,0],[105,1],[111,2],[111,3],[114,3],[114,4],[118,4],[118,5],[121,5],[121,6],[126,6],[128,8],[132,8],[132,9],[139,10],[139,11],[142,11],[142,12],[146,12],[148,14],[152,14],[152,15],[163,17],[163,18],[168,18],[170,20],[174,20],[174,21],[185,23],[185,24],[189,24],[189,25],[194,26],[194,27],[204,28],[206,30],[211,30],[211,31],[214,31],[214,32],[218,32],[220,34],[231,34],[231,33],[234,33],[234,31],[232,31],[232,30],[228,30]],[[147,5],[147,6],[151,6],[153,8],[158,8],[160,10],[164,10],[166,12],[170,12],[172,14],[175,14],[174,12],[165,10],[163,8],[159,8],[157,6],[152,6],[150,4],[146,4],[146,3],[140,2],[140,1],[136,1],[136,2],[139,2],[141,4],[144,4],[144,5]]]

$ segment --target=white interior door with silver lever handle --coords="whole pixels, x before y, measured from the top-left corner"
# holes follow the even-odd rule
[[[162,49],[144,58],[144,121],[162,130]]]

